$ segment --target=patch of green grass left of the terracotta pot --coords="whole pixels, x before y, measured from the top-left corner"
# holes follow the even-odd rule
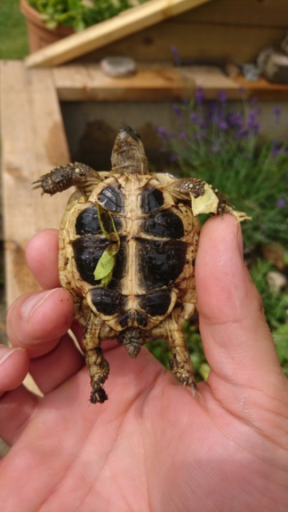
[[[0,0],[0,59],[23,59],[28,55],[26,21],[20,0]]]

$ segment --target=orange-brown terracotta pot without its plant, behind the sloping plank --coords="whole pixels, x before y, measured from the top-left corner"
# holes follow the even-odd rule
[[[69,27],[46,28],[39,12],[33,9],[26,0],[20,0],[20,11],[24,14],[27,22],[30,53],[36,52],[48,44],[55,43],[63,37],[74,34],[73,28]]]

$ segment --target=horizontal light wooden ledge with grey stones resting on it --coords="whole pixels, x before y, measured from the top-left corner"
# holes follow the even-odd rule
[[[239,100],[243,93],[261,100],[288,100],[288,85],[269,84],[263,78],[232,79],[213,66],[142,65],[138,75],[119,79],[103,75],[97,64],[76,64],[53,68],[52,75],[61,101],[179,100],[193,96],[200,86],[207,100],[217,98],[221,90],[228,100]]]

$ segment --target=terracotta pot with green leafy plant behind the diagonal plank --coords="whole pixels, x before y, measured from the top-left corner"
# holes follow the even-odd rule
[[[113,18],[146,0],[20,0],[30,52]]]

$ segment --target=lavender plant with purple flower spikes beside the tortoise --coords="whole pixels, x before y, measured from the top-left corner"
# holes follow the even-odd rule
[[[260,137],[257,103],[243,102],[233,111],[225,92],[206,102],[200,88],[194,100],[174,105],[173,112],[175,131],[158,129],[173,172],[212,183],[252,216],[243,226],[246,248],[271,241],[287,246],[288,144]],[[275,108],[272,125],[280,115]]]

